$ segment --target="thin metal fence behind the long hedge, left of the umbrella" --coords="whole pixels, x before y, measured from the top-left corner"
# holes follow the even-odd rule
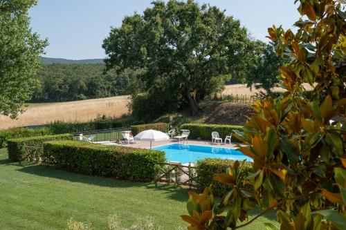
[[[71,133],[75,141],[89,141],[89,142],[114,142],[122,139],[122,132],[131,131],[130,128],[108,128],[95,131],[84,131],[78,133]]]

